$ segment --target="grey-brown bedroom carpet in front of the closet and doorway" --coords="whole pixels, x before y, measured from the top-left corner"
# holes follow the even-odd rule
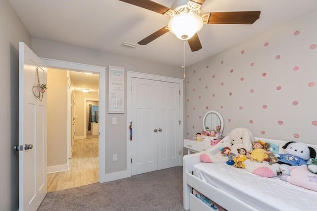
[[[48,193],[38,211],[183,211],[183,168]]]

